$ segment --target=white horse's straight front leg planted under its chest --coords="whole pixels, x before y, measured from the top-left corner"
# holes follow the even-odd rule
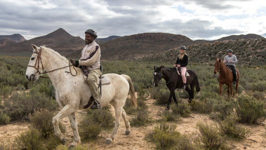
[[[73,136],[74,136],[74,141],[71,143],[71,145],[72,146],[76,146],[77,144],[80,143],[80,137],[79,137],[79,134],[78,134],[77,120],[76,120],[76,117],[75,117],[75,112],[69,114],[68,115],[68,119],[70,121],[70,125],[71,125],[71,128],[73,130]]]

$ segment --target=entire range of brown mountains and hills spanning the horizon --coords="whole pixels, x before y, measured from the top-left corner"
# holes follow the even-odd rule
[[[147,32],[127,36],[114,35],[96,39],[101,47],[102,60],[163,59],[164,61],[172,61],[172,59],[176,59],[175,54],[178,51],[170,53],[174,58],[162,53],[171,51],[169,49],[178,50],[179,46],[185,45],[188,48],[187,52],[191,62],[206,64],[212,62],[215,57],[223,56],[224,50],[229,47],[234,49],[234,53],[238,55],[245,53],[242,59],[247,59],[246,63],[265,63],[266,42],[264,40],[266,38],[257,34],[231,35],[217,40],[192,40],[181,34],[162,32]],[[74,59],[80,58],[80,52],[85,46],[84,39],[79,36],[72,36],[63,28],[58,28],[44,36],[22,42],[8,39],[5,45],[0,46],[0,54],[30,56],[32,54],[31,43],[37,46],[45,45],[68,58]],[[245,46],[243,47],[243,45]],[[242,62],[240,61],[240,63]]]

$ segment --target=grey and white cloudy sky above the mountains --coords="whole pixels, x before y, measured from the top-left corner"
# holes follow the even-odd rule
[[[214,40],[255,33],[266,37],[265,0],[0,0],[0,35],[26,39],[58,28],[84,39],[144,32]]]

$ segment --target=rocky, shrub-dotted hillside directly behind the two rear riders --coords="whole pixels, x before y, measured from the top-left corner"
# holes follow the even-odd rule
[[[266,38],[250,38],[237,40],[215,41],[212,43],[192,44],[187,47],[189,62],[213,64],[215,58],[224,58],[227,49],[233,49],[241,65],[266,65]],[[168,61],[174,64],[179,48],[136,57],[134,60]]]

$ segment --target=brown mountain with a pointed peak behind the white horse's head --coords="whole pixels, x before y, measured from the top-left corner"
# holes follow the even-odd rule
[[[0,47],[0,54],[7,55],[26,55],[32,54],[31,44],[37,46],[45,45],[62,55],[69,55],[73,51],[80,50],[85,45],[85,40],[79,36],[72,36],[62,28],[30,40],[25,40],[19,43],[9,43]]]

